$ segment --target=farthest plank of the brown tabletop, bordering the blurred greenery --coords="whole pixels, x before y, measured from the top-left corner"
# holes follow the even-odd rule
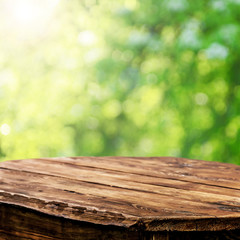
[[[90,166],[97,169],[109,169],[124,173],[138,173],[140,175],[150,175],[168,179],[177,179],[202,184],[215,184],[217,186],[240,189],[240,167],[233,164],[223,164],[216,162],[206,162],[181,159],[181,158],[127,158],[123,157],[82,157],[79,158],[46,158],[39,159],[48,163],[54,161],[61,164],[73,164],[74,166]],[[29,163],[36,159],[28,160]],[[179,161],[179,162],[178,162]],[[14,161],[15,162],[15,161]],[[12,164],[15,164],[13,161]],[[111,164],[109,164],[111,162]],[[34,164],[32,163],[32,164]],[[30,164],[31,165],[31,164]],[[144,168],[143,168],[144,166]],[[31,168],[31,166],[30,166]],[[224,171],[225,174],[222,174]]]

